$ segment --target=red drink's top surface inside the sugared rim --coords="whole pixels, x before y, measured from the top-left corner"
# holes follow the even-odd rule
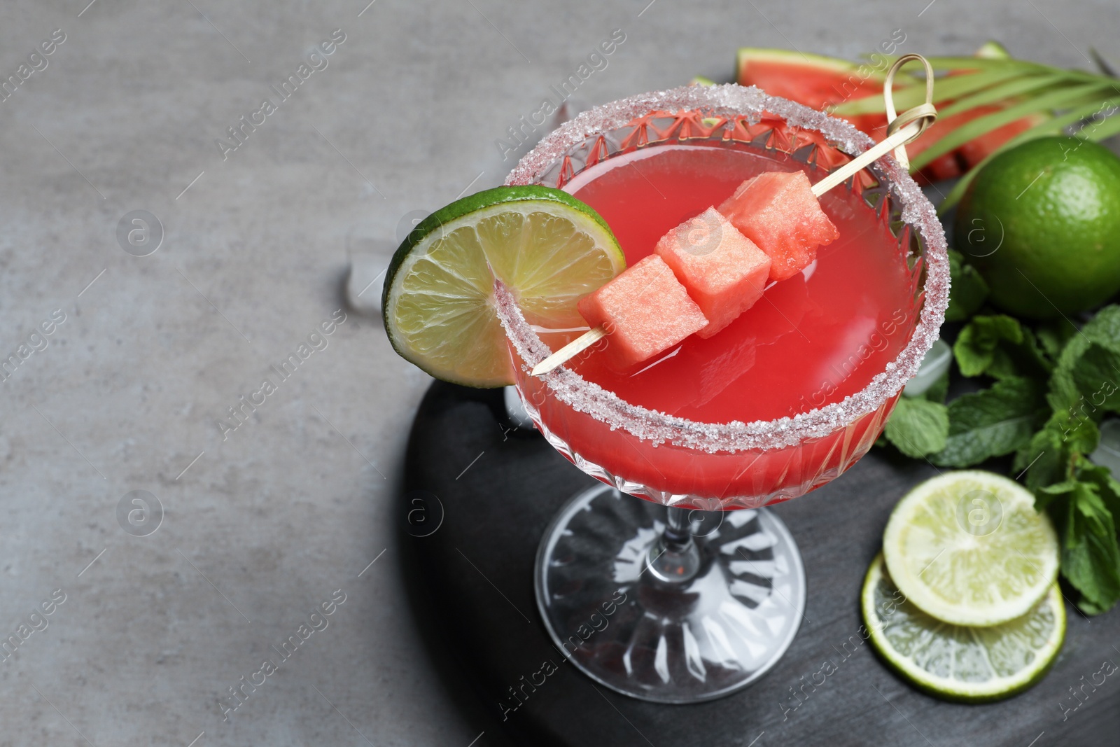
[[[634,264],[744,179],[799,168],[781,152],[679,146],[606,161],[566,189],[606,218]],[[572,370],[627,402],[701,422],[773,420],[864,389],[909,342],[915,279],[897,237],[861,197],[836,190],[821,202],[840,239],[718,335],[693,335],[637,372],[613,371],[597,355]]]

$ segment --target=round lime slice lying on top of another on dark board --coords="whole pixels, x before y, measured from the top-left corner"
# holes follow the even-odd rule
[[[1021,617],[1057,578],[1057,535],[1034,496],[979,470],[945,473],[911,491],[890,514],[883,554],[912,603],[954,625]]]

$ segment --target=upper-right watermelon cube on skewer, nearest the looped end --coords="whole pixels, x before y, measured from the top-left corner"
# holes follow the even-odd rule
[[[797,274],[816,259],[819,245],[840,235],[803,171],[767,171],[747,179],[719,212],[769,255],[771,280]]]

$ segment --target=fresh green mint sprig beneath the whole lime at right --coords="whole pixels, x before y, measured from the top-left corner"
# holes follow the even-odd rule
[[[967,321],[953,345],[955,370],[989,385],[944,404],[946,376],[923,396],[900,398],[880,442],[939,467],[1014,454],[1009,476],[1054,521],[1077,606],[1105,611],[1120,601],[1120,482],[1089,455],[1101,420],[1120,413],[1120,306],[1080,329],[980,314],[987,286],[960,254],[950,260],[950,309]]]

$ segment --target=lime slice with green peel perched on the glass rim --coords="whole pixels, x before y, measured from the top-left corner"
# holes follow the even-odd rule
[[[436,211],[409,234],[385,273],[385,329],[426,372],[466,386],[513,383],[494,278],[530,324],[586,327],[576,302],[626,268],[598,213],[548,187],[497,187]]]

